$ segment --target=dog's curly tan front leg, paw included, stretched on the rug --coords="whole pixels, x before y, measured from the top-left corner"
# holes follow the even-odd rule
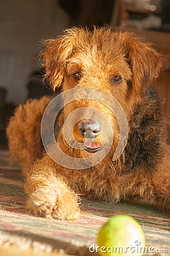
[[[62,173],[57,173],[48,155],[27,171],[25,192],[29,196],[28,207],[37,216],[74,220],[79,215],[78,195],[65,183]]]

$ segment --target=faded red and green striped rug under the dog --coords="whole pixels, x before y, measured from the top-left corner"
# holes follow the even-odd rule
[[[146,255],[170,255],[170,214],[138,200],[106,204],[82,199],[82,213],[76,221],[33,216],[26,201],[19,166],[10,163],[7,151],[0,151],[0,245],[8,243],[25,249],[33,247],[80,256],[99,255],[92,251],[101,225],[111,216],[128,214],[142,225]]]

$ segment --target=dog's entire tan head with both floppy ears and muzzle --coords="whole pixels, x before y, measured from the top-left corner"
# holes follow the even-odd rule
[[[108,141],[113,135],[116,148],[120,127],[116,106],[113,106],[114,111],[109,108],[112,102],[107,95],[116,98],[129,120],[134,102],[141,101],[148,86],[158,77],[161,68],[158,53],[144,40],[128,32],[112,32],[109,28],[94,28],[92,32],[72,28],[57,39],[46,40],[45,45],[42,55],[46,77],[53,89],[62,86],[62,91],[66,92],[81,88],[80,96],[80,91],[75,90],[76,96],[70,94],[63,98],[64,102],[69,102],[68,97],[76,98],[64,104],[64,117],[72,114],[71,129],[66,129],[66,137],[73,132],[75,141],[82,143],[84,150],[91,154],[101,149],[105,133]],[[92,89],[86,90],[86,87]],[[109,103],[105,104],[107,100]]]

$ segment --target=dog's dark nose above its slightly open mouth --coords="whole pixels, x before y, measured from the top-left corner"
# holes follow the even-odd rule
[[[88,139],[96,138],[101,131],[100,123],[94,120],[79,122],[78,128],[79,128],[80,134],[82,134],[84,138],[88,138]]]

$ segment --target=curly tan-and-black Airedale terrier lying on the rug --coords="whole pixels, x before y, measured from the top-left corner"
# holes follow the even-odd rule
[[[74,27],[43,43],[45,77],[63,93],[63,108],[54,123],[56,144],[73,163],[80,159],[87,168],[71,168],[71,162],[67,167],[62,154],[58,159],[63,156],[63,164],[46,153],[41,119],[51,98],[20,105],[10,119],[7,137],[11,155],[23,167],[29,208],[37,216],[73,220],[80,213],[79,196],[85,195],[110,203],[141,197],[169,210],[170,150],[163,102],[152,86],[162,69],[162,56],[144,39],[109,27],[92,31]],[[78,98],[80,92],[84,97]],[[115,102],[125,114],[128,139],[113,159],[124,129]],[[79,148],[67,141],[69,129]],[[111,147],[102,155],[107,143]],[[97,160],[98,154],[102,160]]]

